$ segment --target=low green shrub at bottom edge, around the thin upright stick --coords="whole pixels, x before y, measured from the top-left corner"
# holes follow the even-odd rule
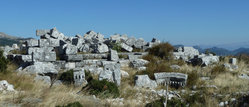
[[[161,97],[161,99],[153,101],[151,103],[146,104],[145,107],[163,107],[165,102],[165,98]],[[167,107],[186,107],[186,104],[181,102],[178,99],[171,99],[167,101]]]

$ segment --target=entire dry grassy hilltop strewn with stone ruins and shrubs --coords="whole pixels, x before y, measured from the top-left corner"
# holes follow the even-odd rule
[[[248,106],[248,57],[220,57],[127,35],[89,31],[65,36],[56,28],[2,47],[0,105]],[[2,57],[2,58],[3,58]],[[168,92],[166,86],[169,86]]]

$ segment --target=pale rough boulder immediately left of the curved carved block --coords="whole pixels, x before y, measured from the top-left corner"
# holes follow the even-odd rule
[[[136,75],[135,86],[143,88],[156,88],[156,81],[151,80],[148,75]]]

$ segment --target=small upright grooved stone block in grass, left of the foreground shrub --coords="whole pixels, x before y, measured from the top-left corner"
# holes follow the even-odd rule
[[[74,69],[73,75],[74,75],[75,86],[82,86],[82,85],[87,84],[87,81],[85,80],[84,69]]]

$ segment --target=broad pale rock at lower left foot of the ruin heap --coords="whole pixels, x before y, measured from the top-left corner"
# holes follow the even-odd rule
[[[23,71],[31,74],[58,73],[55,66],[49,62],[34,62],[33,65],[26,67]]]

